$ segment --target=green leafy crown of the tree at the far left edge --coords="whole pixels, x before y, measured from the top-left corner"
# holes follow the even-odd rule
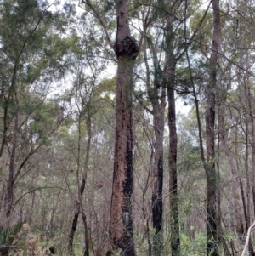
[[[22,145],[35,140],[48,144],[48,134],[63,118],[59,103],[46,97],[52,82],[70,67],[66,55],[78,40],[77,35],[59,34],[66,21],[48,8],[36,0],[5,0],[0,6],[0,111],[6,113],[9,130],[14,117],[20,117],[20,125],[27,120],[20,127],[26,139]]]

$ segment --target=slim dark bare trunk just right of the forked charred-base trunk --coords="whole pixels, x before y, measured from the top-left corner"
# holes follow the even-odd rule
[[[165,3],[166,4],[166,3]],[[167,6],[167,5],[166,5]],[[178,221],[178,178],[177,178],[177,132],[175,111],[175,68],[177,58],[173,52],[173,16],[167,14],[166,24],[166,58],[164,67],[164,79],[168,97],[168,128],[169,128],[169,199],[170,199],[170,225],[171,225],[171,249],[172,255],[180,253],[179,221]]]

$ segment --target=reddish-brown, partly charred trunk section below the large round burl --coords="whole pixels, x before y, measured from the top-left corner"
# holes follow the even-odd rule
[[[128,57],[129,58],[129,57]],[[116,143],[111,197],[110,237],[114,247],[132,256],[133,247],[133,130],[132,130],[132,63],[118,58],[116,96]]]

